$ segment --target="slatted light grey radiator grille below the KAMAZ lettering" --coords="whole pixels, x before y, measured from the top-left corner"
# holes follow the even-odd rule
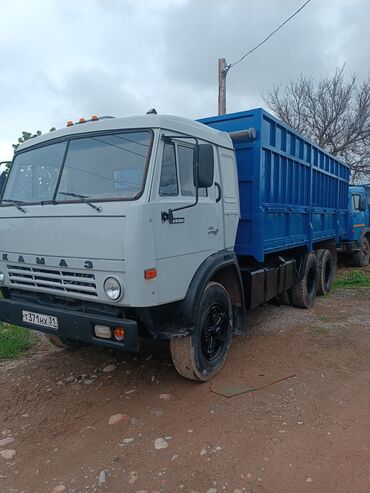
[[[7,265],[7,268],[10,283],[14,287],[97,296],[94,274],[20,265]]]

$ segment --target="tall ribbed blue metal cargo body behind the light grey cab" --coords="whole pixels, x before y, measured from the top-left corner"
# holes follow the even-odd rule
[[[237,255],[266,254],[347,236],[350,169],[263,109],[204,118],[224,132],[256,130],[234,140],[241,220]]]

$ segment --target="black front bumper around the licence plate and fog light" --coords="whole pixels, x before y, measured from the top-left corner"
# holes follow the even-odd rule
[[[57,317],[58,329],[24,322],[22,310]],[[0,320],[2,322],[8,322],[28,329],[54,334],[61,338],[72,339],[88,344],[96,344],[125,351],[139,350],[138,328],[137,323],[134,320],[104,317],[101,315],[67,310],[65,308],[55,308],[33,303],[21,303],[9,299],[0,299]],[[95,325],[107,325],[112,329],[118,326],[123,327],[125,329],[125,338],[123,341],[118,342],[114,339],[101,339],[95,337]]]

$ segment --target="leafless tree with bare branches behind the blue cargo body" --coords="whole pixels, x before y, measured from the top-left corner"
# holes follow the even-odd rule
[[[274,86],[264,100],[278,118],[349,164],[354,183],[369,179],[370,80],[346,80],[343,66],[333,76],[301,75]]]

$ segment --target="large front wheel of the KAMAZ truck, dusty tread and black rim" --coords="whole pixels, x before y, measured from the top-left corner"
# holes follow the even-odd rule
[[[189,380],[206,382],[222,368],[232,339],[232,308],[229,293],[216,282],[203,291],[193,332],[171,339],[173,364]]]

